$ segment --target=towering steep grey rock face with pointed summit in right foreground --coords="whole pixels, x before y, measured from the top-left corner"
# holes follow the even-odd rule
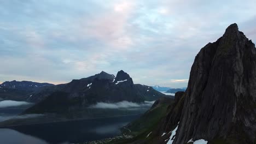
[[[182,118],[173,143],[223,139],[253,143],[256,131],[256,50],[230,25],[201,49],[190,71]]]

